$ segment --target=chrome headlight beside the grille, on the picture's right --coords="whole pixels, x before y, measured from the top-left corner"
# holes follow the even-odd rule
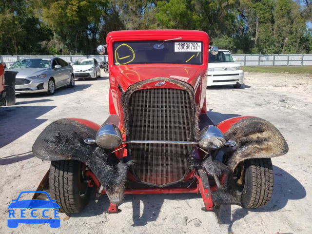
[[[225,145],[226,140],[220,129],[213,125],[204,127],[200,133],[198,145],[202,149],[216,150]]]

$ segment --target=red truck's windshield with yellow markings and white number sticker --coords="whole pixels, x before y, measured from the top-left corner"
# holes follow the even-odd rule
[[[123,41],[114,42],[114,64],[178,63],[202,64],[200,41]]]

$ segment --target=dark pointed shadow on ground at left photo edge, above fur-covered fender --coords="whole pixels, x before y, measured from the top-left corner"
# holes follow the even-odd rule
[[[37,119],[55,106],[10,106],[0,108],[0,148],[35,129],[47,119]]]

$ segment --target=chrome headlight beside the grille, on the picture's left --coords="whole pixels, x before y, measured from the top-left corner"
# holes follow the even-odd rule
[[[114,149],[121,145],[122,137],[119,128],[111,123],[104,124],[97,133],[96,143],[104,149]]]

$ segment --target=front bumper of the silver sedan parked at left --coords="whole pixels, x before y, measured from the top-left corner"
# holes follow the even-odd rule
[[[41,93],[48,90],[48,79],[16,78],[15,93]]]

